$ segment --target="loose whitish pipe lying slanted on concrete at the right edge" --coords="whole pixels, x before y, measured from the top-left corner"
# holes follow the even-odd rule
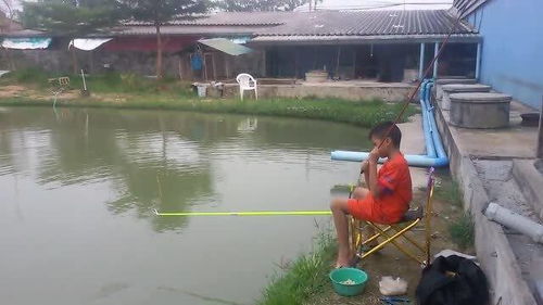
[[[525,236],[529,236],[534,242],[543,243],[543,226],[525,216],[502,207],[494,202],[491,202],[489,206],[487,206],[483,214],[490,220],[494,220],[507,228],[515,229]]]

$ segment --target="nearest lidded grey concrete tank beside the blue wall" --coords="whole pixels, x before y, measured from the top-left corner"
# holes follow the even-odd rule
[[[451,124],[465,128],[501,128],[509,125],[512,97],[501,93],[454,93]]]

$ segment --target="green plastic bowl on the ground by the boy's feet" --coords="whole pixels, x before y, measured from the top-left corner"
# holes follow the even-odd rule
[[[353,296],[364,291],[368,275],[356,268],[339,268],[330,272],[330,280],[336,293],[343,296]],[[353,281],[353,284],[343,283],[348,280]]]

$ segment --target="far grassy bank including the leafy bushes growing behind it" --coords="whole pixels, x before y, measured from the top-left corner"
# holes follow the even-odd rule
[[[21,71],[0,79],[0,86],[23,86],[14,94],[0,97],[3,105],[52,105],[53,97],[46,75],[40,71]],[[80,77],[71,77],[71,88],[80,88]],[[324,119],[370,127],[378,122],[394,119],[401,104],[379,100],[345,101],[341,99],[199,99],[189,84],[175,79],[154,80],[132,74],[104,74],[88,79],[90,98],[77,91],[60,96],[56,106],[159,109],[204,113],[236,113]],[[415,113],[409,106],[403,119]]]

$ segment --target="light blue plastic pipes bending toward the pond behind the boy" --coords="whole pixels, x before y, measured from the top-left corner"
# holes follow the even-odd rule
[[[438,124],[433,116],[433,107],[430,105],[430,92],[433,80],[425,79],[420,87],[420,107],[422,112],[422,130],[425,132],[426,155],[405,155],[405,160],[411,166],[419,167],[442,167],[449,165],[443,143],[438,131]],[[368,158],[367,152],[333,151],[331,158],[337,161],[361,162]],[[380,158],[383,163],[386,158]]]

